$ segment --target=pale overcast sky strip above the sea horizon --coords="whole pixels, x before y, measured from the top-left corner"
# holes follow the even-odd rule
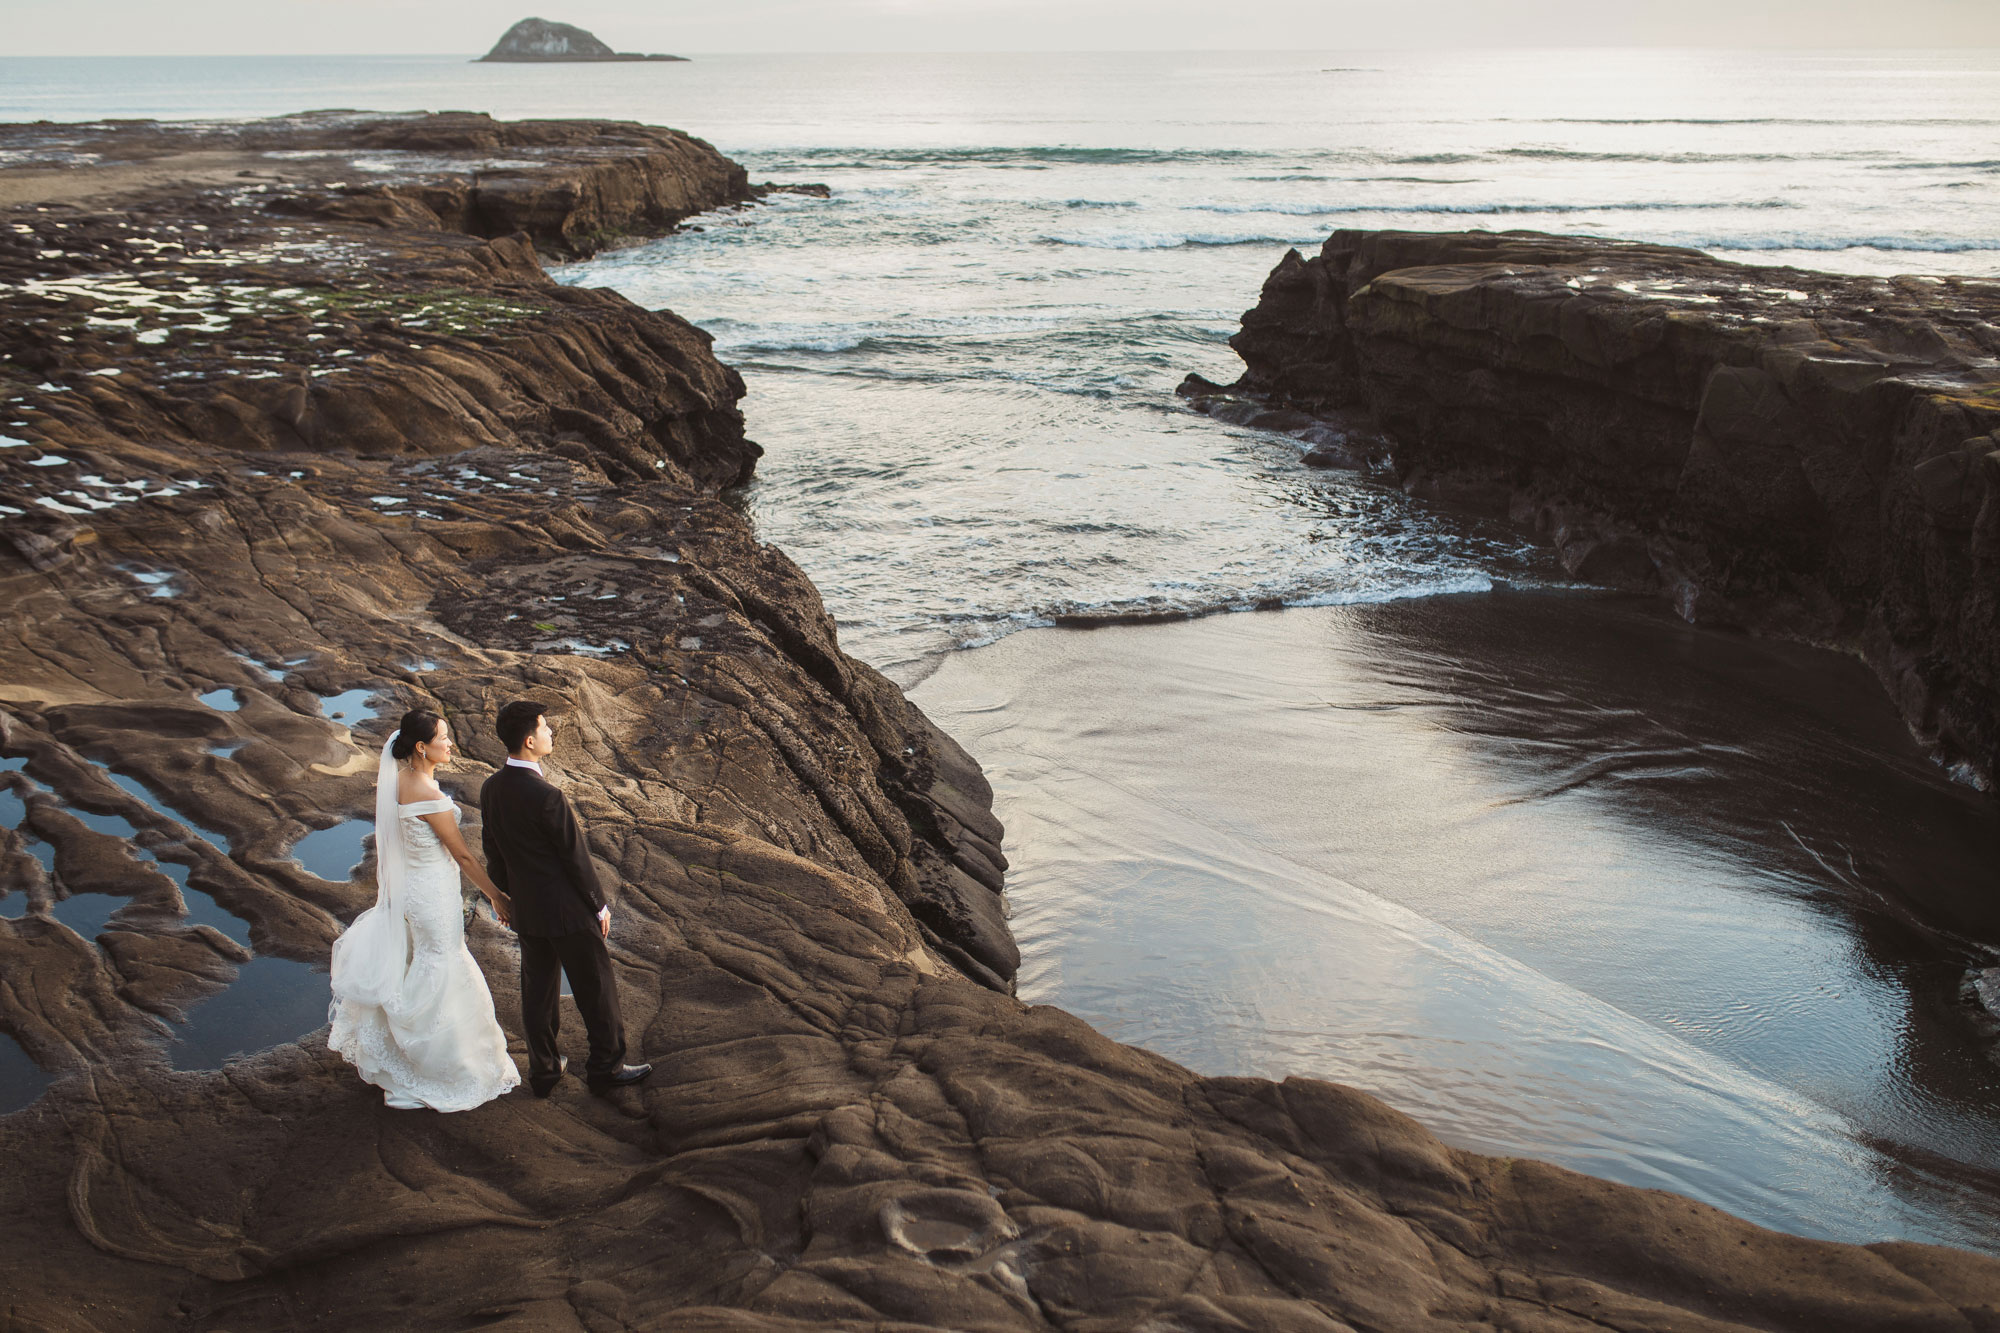
[[[0,0],[0,54],[2000,46],[2000,0]]]

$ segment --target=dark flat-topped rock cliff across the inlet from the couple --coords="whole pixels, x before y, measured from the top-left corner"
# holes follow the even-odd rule
[[[1334,232],[1230,344],[1240,392],[1372,414],[1410,490],[1690,620],[1860,650],[1946,763],[2000,769],[2000,286]]]

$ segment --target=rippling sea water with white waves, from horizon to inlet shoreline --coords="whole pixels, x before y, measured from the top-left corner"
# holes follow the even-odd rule
[[[470,54],[470,52],[468,52]],[[0,60],[0,116],[616,116],[820,182],[570,266],[742,368],[748,502],[904,683],[1066,614],[1534,582],[1512,530],[1182,410],[1338,226],[1544,228],[2000,272],[1996,52]],[[378,166],[392,166],[382,162]]]

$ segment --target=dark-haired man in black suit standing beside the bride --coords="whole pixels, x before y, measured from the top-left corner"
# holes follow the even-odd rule
[[[590,1063],[584,1069],[590,1091],[640,1083],[652,1065],[624,1063],[618,981],[604,947],[612,933],[612,909],[570,803],[542,777],[542,759],[556,741],[548,709],[518,699],[500,709],[494,731],[508,759],[480,789],[480,843],[486,873],[514,901],[528,1087],[536,1097],[548,1097],[568,1065],[556,1055],[562,975],[570,979],[584,1031],[590,1033]]]

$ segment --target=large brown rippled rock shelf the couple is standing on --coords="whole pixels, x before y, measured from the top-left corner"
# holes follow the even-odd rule
[[[978,765],[724,494],[742,380],[536,258],[742,202],[706,144],[310,116],[0,146],[0,1029],[52,1077],[0,1117],[10,1323],[2000,1327],[1994,1259],[1456,1151],[1018,1003]],[[180,1019],[324,965],[372,901],[292,853],[366,815],[386,719],[442,701],[468,795],[518,695],[566,731],[654,1081],[398,1113],[310,1031],[176,1069]],[[86,937],[56,913],[90,895],[120,905]],[[514,945],[470,943],[518,1051]]]

